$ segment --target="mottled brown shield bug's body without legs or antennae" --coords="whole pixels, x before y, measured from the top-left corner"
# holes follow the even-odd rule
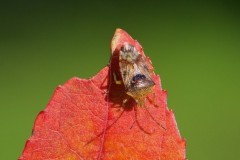
[[[126,93],[143,106],[155,85],[144,57],[134,46],[124,43],[119,53],[119,67]]]

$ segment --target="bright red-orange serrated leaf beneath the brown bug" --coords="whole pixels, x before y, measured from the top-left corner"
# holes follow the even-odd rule
[[[89,80],[72,78],[57,87],[37,116],[20,160],[185,159],[185,140],[167,108],[158,75],[152,76],[156,86],[145,107],[133,99],[122,105],[129,97],[112,75],[119,77],[118,54],[124,42],[144,55],[137,41],[117,29],[110,65]],[[147,63],[153,69],[149,59]]]

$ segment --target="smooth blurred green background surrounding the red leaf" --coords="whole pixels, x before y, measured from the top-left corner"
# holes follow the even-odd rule
[[[190,160],[240,157],[237,1],[0,2],[0,159],[21,155],[54,89],[88,78],[116,28],[144,47],[168,90]]]

